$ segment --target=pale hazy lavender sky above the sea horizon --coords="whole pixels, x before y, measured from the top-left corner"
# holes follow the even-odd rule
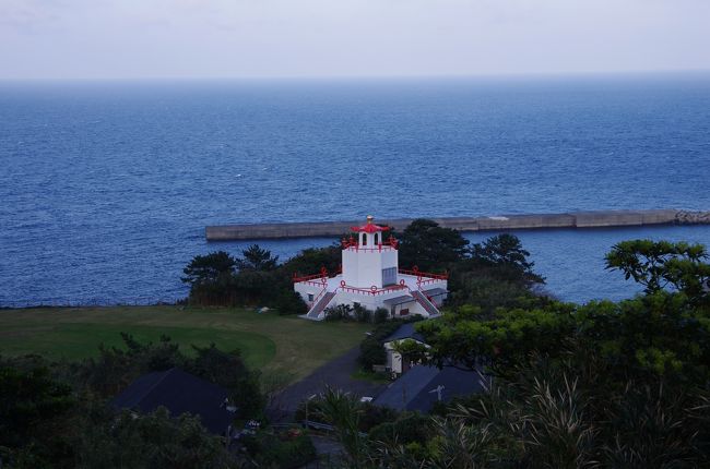
[[[710,0],[0,0],[0,79],[710,70]]]

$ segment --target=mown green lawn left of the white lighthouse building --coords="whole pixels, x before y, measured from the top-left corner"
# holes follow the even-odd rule
[[[99,344],[120,346],[121,332],[141,341],[157,341],[165,334],[186,352],[191,344],[239,348],[249,365],[295,381],[355,347],[368,328],[227,308],[0,310],[0,353],[76,360],[96,356]]]

